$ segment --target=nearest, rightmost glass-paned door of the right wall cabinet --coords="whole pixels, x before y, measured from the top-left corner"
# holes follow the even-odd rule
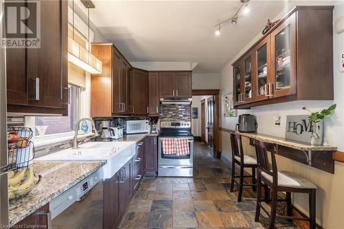
[[[297,93],[296,76],[296,13],[281,23],[271,34],[273,97]]]

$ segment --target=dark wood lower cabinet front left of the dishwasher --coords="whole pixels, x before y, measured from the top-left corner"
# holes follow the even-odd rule
[[[12,226],[12,228],[49,228],[50,226],[49,204],[39,208],[31,215]]]

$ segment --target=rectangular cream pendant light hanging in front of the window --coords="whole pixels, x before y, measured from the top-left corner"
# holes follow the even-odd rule
[[[93,5],[93,4],[92,4]],[[90,41],[89,41],[89,8],[92,6],[87,5],[87,49],[80,45],[74,39],[74,0],[73,0],[73,37],[68,36],[68,61],[74,63],[74,65],[84,69],[86,72],[91,74],[101,74],[103,71],[102,62],[96,58],[91,52],[89,52]],[[94,8],[94,5],[93,5]]]

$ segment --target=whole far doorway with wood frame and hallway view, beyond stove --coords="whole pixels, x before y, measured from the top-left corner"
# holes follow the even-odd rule
[[[220,158],[219,89],[193,90],[193,96],[206,96],[200,102],[199,139],[211,148],[210,153],[213,157]]]

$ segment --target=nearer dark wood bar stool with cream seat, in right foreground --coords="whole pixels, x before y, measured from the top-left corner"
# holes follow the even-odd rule
[[[288,219],[288,220],[303,220],[310,222],[310,228],[315,229],[315,191],[316,185],[309,182],[307,179],[300,177],[294,173],[287,171],[278,171],[276,163],[276,147],[275,144],[261,142],[255,140],[255,149],[257,154],[257,208],[255,221],[259,221],[260,210],[263,209],[264,212],[269,216],[270,223],[269,229],[275,227],[276,217]],[[272,168],[269,164],[268,151],[271,155]],[[261,205],[261,182],[264,182],[269,186],[271,190],[271,211],[270,213],[264,206]],[[285,192],[286,199],[277,199],[278,192]],[[308,193],[309,195],[309,217],[292,217],[292,204],[291,204],[291,193]],[[287,202],[287,215],[277,215],[277,201]]]

